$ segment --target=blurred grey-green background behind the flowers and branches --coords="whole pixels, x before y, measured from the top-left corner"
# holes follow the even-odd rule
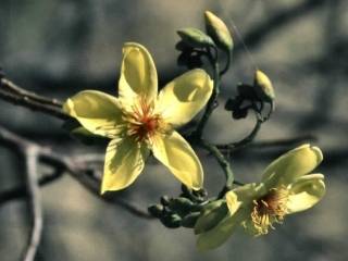
[[[276,110],[256,144],[316,137],[325,157],[319,169],[326,175],[323,201],[288,216],[268,236],[250,238],[240,232],[223,247],[199,253],[190,229],[169,229],[157,220],[134,216],[65,175],[41,189],[45,229],[37,260],[348,259],[346,0],[1,0],[0,64],[14,83],[48,97],[64,100],[90,88],[114,94],[123,42],[137,41],[152,53],[164,84],[185,71],[176,66],[176,29],[203,28],[206,10],[235,32],[233,66],[223,80],[222,99],[235,92],[237,83],[251,83],[254,66],[268,73],[275,86]],[[0,124],[24,137],[66,154],[102,152],[72,139],[59,120],[2,100],[0,107]],[[233,121],[222,105],[204,136],[214,142],[238,140],[252,125],[252,119]],[[232,156],[233,170],[241,182],[259,181],[273,159],[296,146],[251,146]],[[223,174],[214,159],[198,153],[206,185],[214,194]],[[0,165],[0,189],[23,183],[18,159],[3,148]],[[179,184],[151,160],[120,197],[146,209],[162,195],[178,194]],[[24,200],[0,206],[1,261],[20,260],[28,224]]]

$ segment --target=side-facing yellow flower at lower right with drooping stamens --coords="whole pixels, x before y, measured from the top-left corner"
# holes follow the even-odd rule
[[[275,223],[283,222],[285,215],[313,207],[325,194],[324,176],[308,173],[322,160],[323,154],[318,147],[300,146],[272,162],[260,184],[247,184],[228,191],[226,203],[229,213],[213,227],[196,227],[198,248],[219,247],[238,225],[254,236],[268,234]],[[221,211],[214,210],[215,215]],[[204,220],[208,216],[203,214],[197,224],[207,224]]]

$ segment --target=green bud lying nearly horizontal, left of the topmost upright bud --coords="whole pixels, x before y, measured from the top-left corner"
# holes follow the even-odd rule
[[[177,34],[186,45],[194,48],[215,46],[210,36],[206,35],[203,32],[197,28],[183,28],[177,30]]]

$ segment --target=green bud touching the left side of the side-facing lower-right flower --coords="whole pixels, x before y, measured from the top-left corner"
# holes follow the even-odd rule
[[[228,208],[224,200],[213,201],[203,208],[196,222],[195,234],[201,234],[216,226],[228,214]]]

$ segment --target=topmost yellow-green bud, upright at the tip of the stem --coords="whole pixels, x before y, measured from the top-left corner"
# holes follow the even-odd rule
[[[206,29],[215,44],[227,51],[233,49],[233,39],[226,24],[210,11],[204,12]]]

